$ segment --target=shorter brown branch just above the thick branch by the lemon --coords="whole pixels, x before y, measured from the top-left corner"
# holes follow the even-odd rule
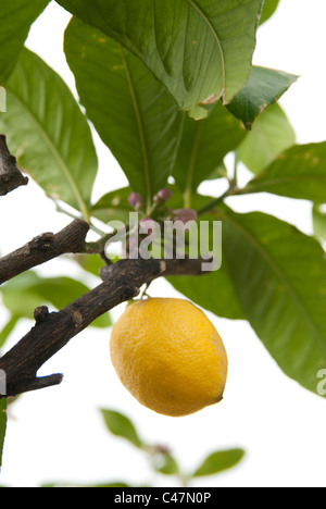
[[[0,285],[34,266],[65,253],[83,252],[89,225],[76,220],[59,234],[45,233],[0,259]]]

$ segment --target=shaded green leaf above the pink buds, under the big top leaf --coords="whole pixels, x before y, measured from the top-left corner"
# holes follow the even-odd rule
[[[225,107],[218,103],[210,116],[195,122],[185,119],[183,138],[173,176],[189,195],[223,163],[225,156],[243,140],[246,132]],[[190,206],[190,203],[188,203]]]

